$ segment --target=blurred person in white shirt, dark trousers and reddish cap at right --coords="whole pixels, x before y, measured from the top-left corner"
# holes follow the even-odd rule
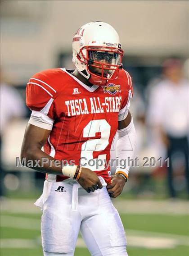
[[[161,140],[170,158],[168,186],[170,196],[175,197],[173,174],[175,169],[179,171],[178,162],[175,161],[178,152],[184,159],[189,194],[189,81],[184,80],[182,64],[178,59],[167,59],[162,66],[162,73],[163,80],[150,91],[147,118],[153,142],[159,144],[158,140]]]

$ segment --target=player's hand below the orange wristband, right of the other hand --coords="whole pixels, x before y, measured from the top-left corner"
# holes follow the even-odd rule
[[[113,198],[118,197],[121,194],[125,183],[126,183],[126,180],[124,177],[122,177],[122,175],[116,174],[112,176],[111,183],[108,184],[108,186],[106,187],[110,197],[113,197]]]

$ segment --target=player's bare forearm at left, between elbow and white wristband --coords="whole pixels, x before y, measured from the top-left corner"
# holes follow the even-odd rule
[[[61,163],[58,165],[57,160],[46,154],[39,148],[23,148],[21,151],[21,160],[26,166],[41,173],[62,175]],[[33,163],[33,165],[32,165]]]

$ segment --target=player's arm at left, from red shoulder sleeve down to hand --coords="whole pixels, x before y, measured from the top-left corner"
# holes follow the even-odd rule
[[[46,82],[41,80],[41,76],[45,80],[45,76],[39,73],[27,84],[26,103],[32,113],[23,138],[21,160],[25,158],[26,163],[29,163],[29,160],[37,162],[36,167],[28,167],[42,173],[63,175],[62,166],[57,167],[54,163],[56,159],[41,150],[51,133],[56,114],[53,105],[53,90],[49,90],[50,87],[45,85]],[[43,165],[42,158],[45,158]],[[97,174],[87,168],[82,168],[78,183],[87,192],[102,188]]]

